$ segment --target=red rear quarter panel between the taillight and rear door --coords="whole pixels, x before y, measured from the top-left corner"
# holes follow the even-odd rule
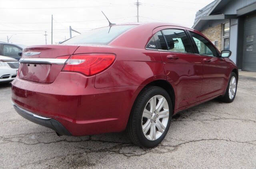
[[[80,46],[74,54],[78,53],[116,54],[112,66],[96,75],[95,88],[147,85],[154,80],[166,79],[158,51]]]

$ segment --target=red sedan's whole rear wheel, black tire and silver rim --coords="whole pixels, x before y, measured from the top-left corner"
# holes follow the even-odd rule
[[[161,87],[148,86],[138,95],[126,132],[132,142],[152,148],[166,136],[172,119],[172,102]]]

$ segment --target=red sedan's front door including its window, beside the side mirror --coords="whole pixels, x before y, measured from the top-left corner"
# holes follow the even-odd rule
[[[227,64],[216,48],[201,35],[190,32],[197,53],[202,57],[203,83],[200,100],[221,94],[225,85]]]

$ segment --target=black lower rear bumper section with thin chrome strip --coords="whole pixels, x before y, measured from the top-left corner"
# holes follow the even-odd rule
[[[68,132],[68,130],[64,126],[62,126],[62,124],[60,124],[60,122],[58,122],[57,120],[39,116],[32,112],[28,112],[27,110],[20,108],[14,103],[13,103],[13,107],[15,108],[16,112],[20,114],[20,116],[26,118],[27,120],[34,122],[36,124],[39,124],[41,126],[51,128],[52,130],[54,130],[60,135],[71,136],[70,132]]]

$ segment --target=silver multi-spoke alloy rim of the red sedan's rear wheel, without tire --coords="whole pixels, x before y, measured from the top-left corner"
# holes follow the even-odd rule
[[[169,119],[166,98],[156,95],[150,98],[142,114],[142,132],[148,140],[157,140],[164,133]]]

